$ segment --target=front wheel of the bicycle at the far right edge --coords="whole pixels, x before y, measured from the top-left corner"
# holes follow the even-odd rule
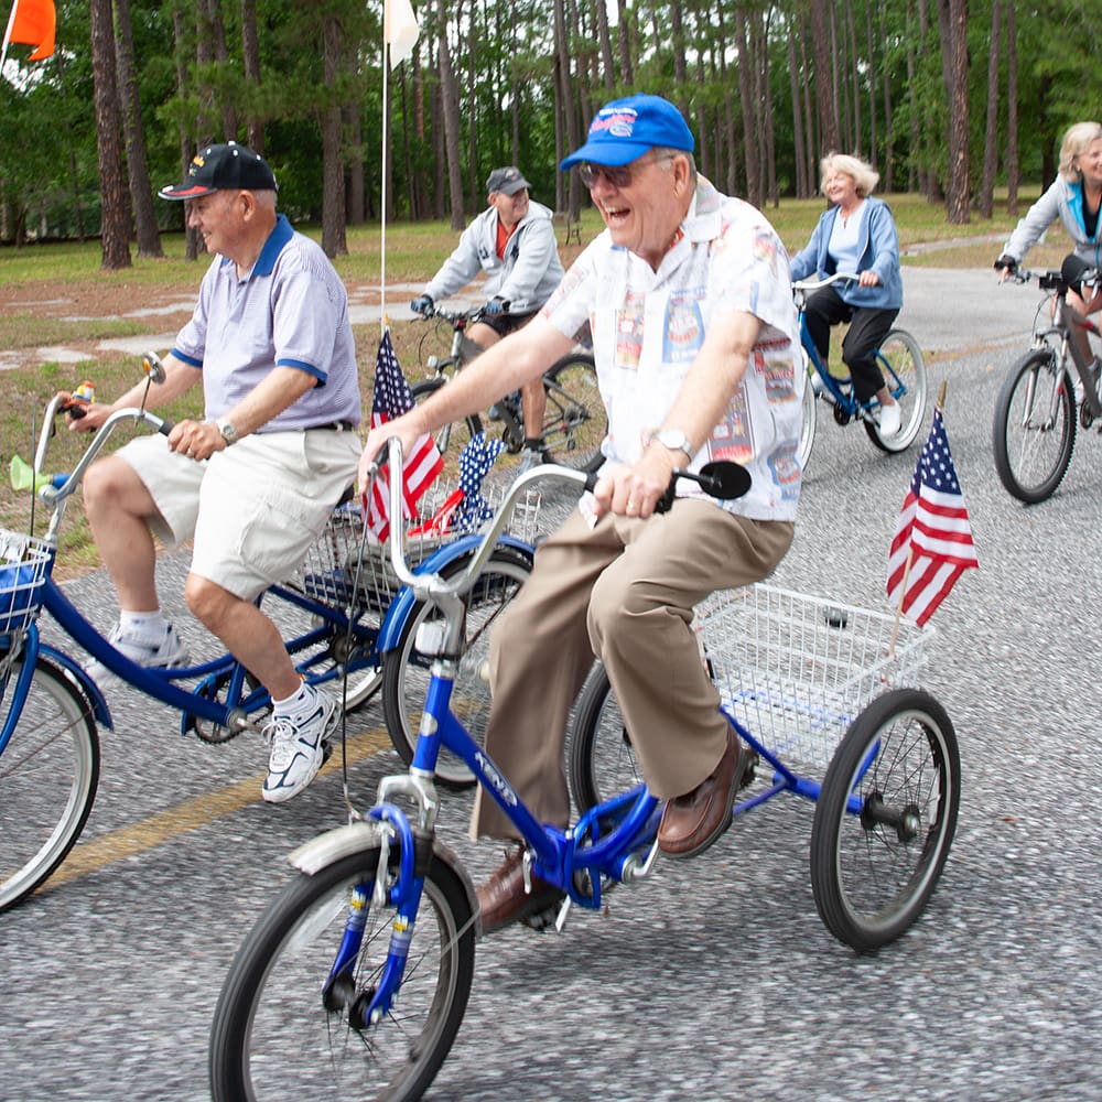
[[[1076,399],[1054,349],[1034,349],[1011,368],[995,401],[991,442],[1008,494],[1036,505],[1056,493],[1076,446]]]

